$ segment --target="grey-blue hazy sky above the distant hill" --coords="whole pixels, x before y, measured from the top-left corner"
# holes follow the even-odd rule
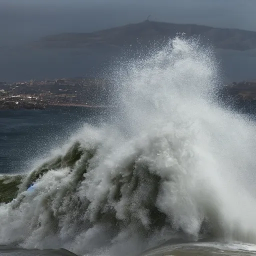
[[[0,46],[152,20],[256,31],[256,0],[0,0]]]

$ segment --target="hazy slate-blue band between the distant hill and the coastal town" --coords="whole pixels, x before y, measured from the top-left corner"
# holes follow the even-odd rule
[[[0,48],[0,81],[101,76],[111,68],[109,61],[121,54],[115,48],[33,49]],[[226,82],[255,79],[255,50],[216,49]],[[14,63],[14,64],[13,64]]]

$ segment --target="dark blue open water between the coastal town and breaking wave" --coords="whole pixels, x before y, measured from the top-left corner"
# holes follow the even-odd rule
[[[49,148],[65,142],[85,122],[103,120],[103,111],[83,107],[0,111],[0,173],[25,170]]]

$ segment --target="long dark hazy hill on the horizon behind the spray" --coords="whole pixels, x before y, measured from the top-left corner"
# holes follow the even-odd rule
[[[142,45],[149,41],[173,38],[177,33],[198,36],[209,41],[216,48],[248,50],[256,48],[256,32],[241,29],[214,28],[195,24],[173,24],[143,21],[135,24],[104,29],[91,33],[61,33],[42,37],[34,47],[46,48],[122,48],[125,45]]]

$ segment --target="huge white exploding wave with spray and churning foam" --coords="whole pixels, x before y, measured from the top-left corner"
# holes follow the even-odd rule
[[[118,116],[21,177],[0,244],[134,255],[175,238],[256,242],[256,128],[218,103],[213,50],[177,37],[111,76]]]

